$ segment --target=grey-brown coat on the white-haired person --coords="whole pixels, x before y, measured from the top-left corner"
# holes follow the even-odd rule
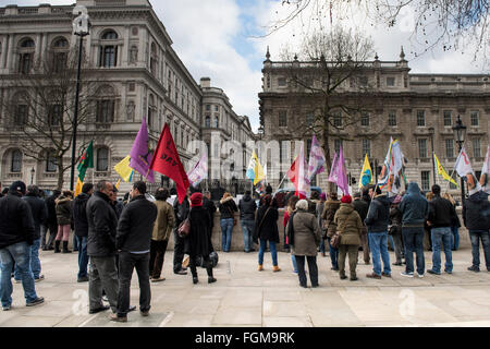
[[[294,255],[316,256],[317,248],[321,241],[321,230],[315,215],[297,209],[293,219],[290,219],[287,222],[287,225],[291,224],[293,225],[291,228],[294,231],[292,253]]]

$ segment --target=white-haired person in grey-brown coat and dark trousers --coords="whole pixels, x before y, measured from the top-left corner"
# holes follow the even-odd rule
[[[317,248],[320,245],[321,230],[314,214],[308,212],[308,202],[299,200],[296,212],[287,222],[287,238],[296,260],[299,286],[306,288],[305,258],[308,262],[311,287],[318,287]]]

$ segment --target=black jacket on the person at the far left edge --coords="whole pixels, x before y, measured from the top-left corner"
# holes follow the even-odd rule
[[[16,192],[0,198],[0,249],[19,242],[33,244],[35,237],[29,205]]]

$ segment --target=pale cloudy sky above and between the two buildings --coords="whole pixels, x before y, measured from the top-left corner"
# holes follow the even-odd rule
[[[47,2],[71,4],[74,0],[0,0],[0,7]],[[286,27],[265,36],[267,26],[287,11],[282,0],[154,0],[151,4],[173,40],[173,49],[196,82],[199,83],[204,76],[210,77],[211,86],[223,88],[234,111],[248,116],[253,130],[257,132],[258,93],[261,92],[261,69],[267,47],[270,47],[272,61],[280,60],[284,46],[294,50],[315,23],[311,13],[306,12]],[[415,57],[413,51],[420,47],[411,38],[411,9],[402,13],[401,21],[393,28],[371,26],[358,9],[333,12],[333,22],[371,35],[381,61],[399,60],[403,45],[412,73],[488,73],[473,62],[470,52],[463,49],[448,52],[436,49]],[[330,19],[322,19],[321,23],[329,27]]]

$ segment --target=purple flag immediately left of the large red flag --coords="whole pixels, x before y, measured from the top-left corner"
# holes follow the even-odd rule
[[[146,127],[145,118],[143,118],[142,127],[134,140],[130,156],[130,167],[138,171],[139,174],[146,177],[151,183],[155,183],[154,171],[149,168],[152,155],[148,148],[148,128]]]

